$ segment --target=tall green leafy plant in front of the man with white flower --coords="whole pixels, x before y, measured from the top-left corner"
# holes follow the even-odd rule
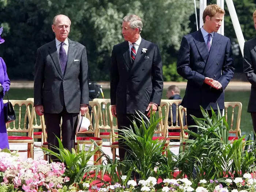
[[[139,113],[137,115],[140,116]],[[161,118],[155,118],[152,109],[150,119],[144,114],[142,114],[141,118],[136,118],[140,125],[136,124],[135,120],[133,120],[135,132],[133,132],[132,128],[119,131],[123,132],[121,137],[129,148],[127,149],[127,159],[132,159],[135,172],[138,172],[140,177],[146,180],[150,176],[157,177],[154,168],[159,166],[162,158],[165,158],[162,153],[168,150],[168,148],[165,148],[166,140],[152,140],[154,131],[161,120]]]

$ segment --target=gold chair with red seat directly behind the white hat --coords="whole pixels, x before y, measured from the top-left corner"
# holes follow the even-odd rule
[[[78,144],[93,144],[91,140],[95,141],[98,146],[102,146],[102,139],[99,138],[99,119],[101,113],[101,105],[96,101],[89,101],[91,106],[91,114],[86,113],[86,117],[90,120],[90,126],[88,131],[78,132],[79,134],[93,134],[93,136],[76,136],[76,143]],[[77,145],[76,145],[77,148]],[[94,155],[94,162],[100,157],[101,154],[98,151]],[[98,164],[101,164],[101,159],[99,159]]]

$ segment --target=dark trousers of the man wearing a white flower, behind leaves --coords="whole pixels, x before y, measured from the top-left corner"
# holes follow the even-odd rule
[[[133,132],[135,132],[132,121],[135,120],[137,126],[140,127],[140,122],[135,117],[141,118],[137,114],[117,114],[118,129],[127,129],[131,126]],[[123,161],[128,146],[124,144],[124,139],[120,135],[124,135],[122,131],[118,131],[118,150],[120,161]]]

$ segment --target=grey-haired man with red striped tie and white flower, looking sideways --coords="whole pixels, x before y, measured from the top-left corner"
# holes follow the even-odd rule
[[[130,127],[135,111],[149,116],[150,108],[157,111],[161,102],[163,76],[160,51],[156,44],[140,37],[141,31],[139,16],[125,16],[122,24],[125,41],[114,45],[112,50],[110,98],[118,129]],[[119,147],[121,160],[124,159],[124,148]]]

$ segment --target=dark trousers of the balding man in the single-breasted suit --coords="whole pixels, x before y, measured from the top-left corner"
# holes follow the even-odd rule
[[[47,141],[48,148],[56,153],[59,153],[58,150],[54,149],[52,146],[59,147],[58,138],[60,138],[60,129],[62,136],[62,144],[64,148],[67,148],[71,151],[72,148],[75,148],[75,122],[78,117],[78,113],[68,113],[64,107],[61,113],[45,113],[45,124],[47,131]],[[60,120],[62,117],[62,124],[60,128]],[[50,156],[51,159],[55,157]]]

